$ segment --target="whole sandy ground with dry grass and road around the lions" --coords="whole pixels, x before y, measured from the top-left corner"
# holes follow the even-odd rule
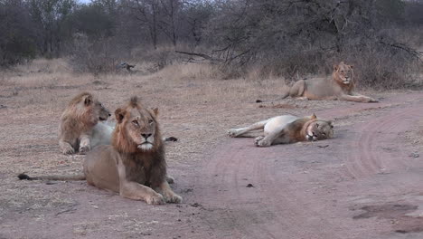
[[[278,100],[277,79],[63,68],[0,74],[0,238],[423,238],[421,91],[363,91],[381,100],[372,104]],[[84,156],[63,156],[57,144],[61,111],[80,91],[110,110],[131,95],[159,107],[164,135],[179,139],[166,155],[183,204],[148,206],[85,182],[17,180],[80,172]],[[335,139],[256,148],[225,135],[313,112],[334,119]]]

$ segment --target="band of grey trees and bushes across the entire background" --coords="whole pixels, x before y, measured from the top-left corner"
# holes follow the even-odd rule
[[[417,0],[0,0],[1,67],[66,58],[101,74],[190,62],[224,79],[295,81],[344,61],[364,86],[399,88],[415,84],[422,46]]]

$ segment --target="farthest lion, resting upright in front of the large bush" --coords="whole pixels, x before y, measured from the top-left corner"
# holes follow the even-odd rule
[[[332,79],[300,80],[282,94],[303,100],[347,100],[354,102],[378,102],[371,97],[354,92],[353,65],[344,62],[334,65]]]

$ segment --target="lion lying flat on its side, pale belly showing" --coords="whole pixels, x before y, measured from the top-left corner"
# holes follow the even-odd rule
[[[252,137],[246,133],[258,129],[264,130],[264,136],[259,136],[255,139],[257,147],[331,139],[334,137],[332,121],[317,119],[315,114],[304,118],[298,118],[294,115],[281,115],[259,121],[245,128],[230,129],[228,134],[234,138]]]

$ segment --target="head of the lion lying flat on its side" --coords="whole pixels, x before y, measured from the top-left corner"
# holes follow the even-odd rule
[[[317,119],[315,114],[311,117],[311,122],[306,129],[305,138],[308,141],[316,141],[322,139],[331,139],[334,137],[334,125],[332,121]]]

